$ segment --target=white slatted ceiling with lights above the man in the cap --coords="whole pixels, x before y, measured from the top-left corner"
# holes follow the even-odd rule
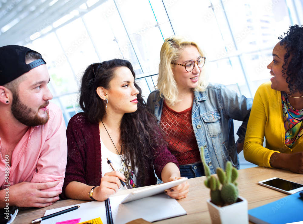
[[[37,38],[65,24],[57,27],[54,22],[58,19],[67,16],[70,22],[103,2],[105,0],[0,0],[0,47],[26,44],[35,39],[31,37],[33,34]]]

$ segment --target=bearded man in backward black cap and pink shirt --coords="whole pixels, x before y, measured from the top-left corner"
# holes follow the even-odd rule
[[[0,208],[59,199],[67,160],[65,122],[41,54],[0,47]]]

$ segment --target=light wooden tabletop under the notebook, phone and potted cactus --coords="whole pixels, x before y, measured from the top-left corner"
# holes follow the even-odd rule
[[[279,191],[271,190],[267,187],[258,185],[258,181],[265,180],[271,177],[279,177],[293,182],[303,184],[303,175],[295,174],[288,170],[271,169],[265,167],[252,167],[239,170],[238,188],[240,195],[248,201],[248,209],[252,209],[275,200],[285,197],[286,194]],[[185,199],[180,199],[178,202],[187,212],[186,216],[179,216],[171,219],[165,219],[157,224],[178,224],[178,223],[211,223],[208,213],[206,200],[210,198],[209,189],[204,185],[205,177],[197,177],[189,179],[190,189],[188,196]],[[138,189],[138,188],[137,188]],[[132,189],[135,190],[135,189]],[[117,195],[129,193],[130,191],[119,191]],[[79,200],[63,200],[41,209],[29,209],[19,211],[13,224],[28,224],[32,219],[42,217],[46,210],[54,209],[87,201]],[[251,223],[251,222],[250,222]]]

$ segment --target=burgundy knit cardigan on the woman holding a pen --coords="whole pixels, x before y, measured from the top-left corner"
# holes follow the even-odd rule
[[[157,128],[157,127],[155,127]],[[84,113],[74,115],[68,122],[67,130],[68,158],[65,171],[64,185],[62,188],[62,199],[65,196],[65,188],[68,183],[78,181],[89,186],[100,185],[101,182],[101,142],[99,124],[90,123]],[[161,179],[163,167],[169,163],[175,163],[178,167],[178,161],[168,149],[163,146],[157,149],[157,156],[154,158],[154,167],[148,167],[147,185],[156,184],[156,175]]]

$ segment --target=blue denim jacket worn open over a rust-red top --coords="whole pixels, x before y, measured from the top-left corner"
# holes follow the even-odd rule
[[[150,93],[147,105],[160,123],[164,99],[160,92]],[[252,99],[218,83],[209,83],[205,92],[194,91],[191,120],[198,148],[204,150],[205,160],[211,174],[216,168],[225,170],[226,161],[240,167],[235,146],[233,119],[243,121],[237,135],[245,138]]]

